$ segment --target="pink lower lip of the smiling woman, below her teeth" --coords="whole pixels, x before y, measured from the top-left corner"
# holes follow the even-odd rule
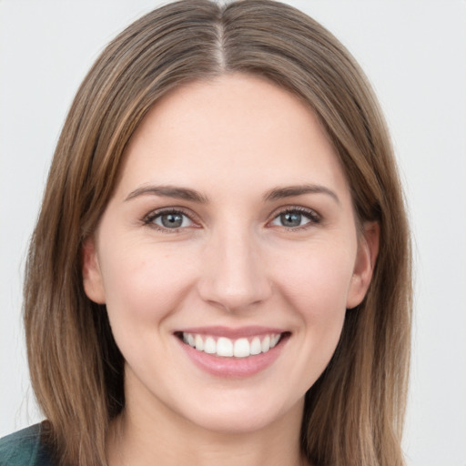
[[[185,350],[187,357],[199,369],[205,370],[211,375],[227,379],[251,377],[262,370],[266,370],[277,360],[285,343],[284,338],[280,339],[277,346],[269,349],[266,353],[248,356],[247,358],[222,358],[194,349],[178,338],[177,340]]]

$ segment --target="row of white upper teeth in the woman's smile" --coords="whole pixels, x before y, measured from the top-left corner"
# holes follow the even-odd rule
[[[248,358],[248,356],[266,353],[279,343],[280,338],[280,333],[272,333],[263,337],[254,337],[250,341],[247,338],[232,340],[225,337],[219,337],[216,341],[214,337],[183,332],[183,341],[190,347],[224,358],[233,356]]]

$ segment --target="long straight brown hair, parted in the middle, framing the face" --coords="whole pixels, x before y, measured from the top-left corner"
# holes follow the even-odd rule
[[[380,224],[366,299],[349,309],[328,368],[306,395],[303,455],[317,465],[397,466],[410,355],[410,238],[390,137],[346,49],[299,10],[270,0],[184,0],[138,19],[96,60],[66,118],[25,276],[25,332],[47,441],[62,465],[105,465],[125,406],[123,358],[105,306],[86,298],[83,242],[117,183],[128,140],[157,99],[241,72],[307,103],[326,128],[360,221]]]

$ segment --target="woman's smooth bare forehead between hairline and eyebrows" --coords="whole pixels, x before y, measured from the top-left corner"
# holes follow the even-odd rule
[[[191,83],[148,112],[127,147],[123,184],[238,188],[325,182],[346,187],[339,159],[309,106],[242,74]]]

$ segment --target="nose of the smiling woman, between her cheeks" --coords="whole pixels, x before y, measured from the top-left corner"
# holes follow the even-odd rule
[[[228,311],[250,309],[271,295],[267,263],[248,232],[213,234],[204,251],[198,290],[202,299]]]

